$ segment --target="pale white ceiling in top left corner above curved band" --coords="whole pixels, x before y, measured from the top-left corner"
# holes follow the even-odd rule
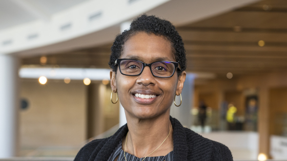
[[[0,0],[0,30],[39,18],[49,19],[59,11],[88,0]]]

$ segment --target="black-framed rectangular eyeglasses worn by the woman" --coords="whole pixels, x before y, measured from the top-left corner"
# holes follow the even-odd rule
[[[117,59],[115,64],[118,64],[120,73],[126,76],[140,75],[145,66],[149,66],[152,75],[159,78],[172,77],[176,68],[180,70],[178,62],[174,61],[156,61],[147,64],[134,59]]]

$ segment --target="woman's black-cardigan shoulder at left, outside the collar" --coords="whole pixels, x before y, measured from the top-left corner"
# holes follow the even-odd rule
[[[74,161],[87,161],[87,160],[89,160],[92,153],[96,149],[101,149],[101,147],[103,147],[105,145],[108,138],[109,137],[107,137],[105,139],[96,139],[96,140],[93,140],[93,141],[89,142],[88,144],[86,144],[83,148],[81,148],[79,150]]]

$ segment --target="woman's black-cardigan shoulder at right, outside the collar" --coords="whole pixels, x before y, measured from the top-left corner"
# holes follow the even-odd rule
[[[205,155],[211,160],[233,160],[229,148],[221,143],[209,140],[198,133],[185,128],[187,143],[192,155]],[[199,154],[200,153],[200,154]]]

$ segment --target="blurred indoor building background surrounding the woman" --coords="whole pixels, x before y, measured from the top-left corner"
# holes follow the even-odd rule
[[[0,158],[72,160],[125,124],[110,47],[143,13],[185,43],[171,116],[235,160],[287,160],[286,0],[0,0]]]

